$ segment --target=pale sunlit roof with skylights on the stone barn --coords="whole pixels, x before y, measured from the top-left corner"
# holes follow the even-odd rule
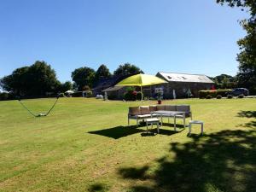
[[[193,83],[207,83],[214,82],[203,74],[186,74],[186,73],[166,73],[159,72],[156,76],[160,76],[168,82],[193,82]]]

